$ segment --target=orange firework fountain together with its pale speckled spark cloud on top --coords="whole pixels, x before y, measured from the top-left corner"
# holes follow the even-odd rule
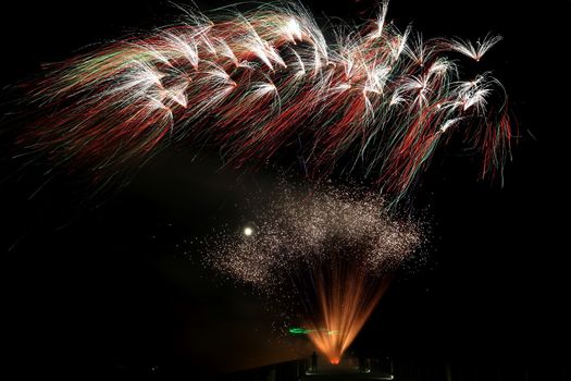
[[[257,216],[256,236],[221,233],[206,262],[232,280],[299,307],[303,328],[332,364],[355,340],[421,228],[392,216],[376,194],[324,187],[301,197],[282,187]],[[285,296],[284,296],[285,295]]]

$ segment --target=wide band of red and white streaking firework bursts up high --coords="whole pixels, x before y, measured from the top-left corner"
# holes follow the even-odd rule
[[[245,12],[189,10],[185,22],[53,65],[27,88],[36,122],[20,139],[97,179],[140,165],[172,143],[220,147],[225,162],[265,162],[299,143],[311,176],[342,158],[404,196],[454,132],[483,157],[509,155],[506,95],[489,73],[460,78],[500,40],[424,39],[387,21],[333,30],[327,42],[300,4]],[[357,165],[359,164],[359,165]]]

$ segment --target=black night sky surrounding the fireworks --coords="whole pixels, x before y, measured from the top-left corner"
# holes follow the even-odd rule
[[[303,1],[314,14],[357,21],[369,0]],[[221,1],[198,1],[208,10]],[[477,181],[476,158],[440,151],[414,207],[432,223],[429,261],[393,283],[355,342],[371,354],[543,358],[569,355],[570,1],[393,0],[388,19],[425,37],[505,39],[486,56],[519,128],[504,187]],[[0,5],[0,85],[37,73],[92,42],[175,20],[165,1],[27,1]],[[2,112],[9,102],[2,98]],[[3,328],[28,368],[169,365],[232,370],[296,357],[308,347],[272,332],[280,316],[246,288],[199,266],[188,242],[241,226],[281,162],[220,169],[215,152],[179,146],[123,187],[92,196],[74,176],[10,159],[2,123],[0,202]],[[4,155],[5,152],[5,155]],[[290,163],[289,163],[290,164]],[[13,343],[13,344],[12,344]],[[568,357],[569,358],[569,357]]]

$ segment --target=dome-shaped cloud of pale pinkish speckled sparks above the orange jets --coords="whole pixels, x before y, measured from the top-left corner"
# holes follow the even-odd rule
[[[420,243],[419,225],[390,217],[374,193],[326,187],[300,200],[286,189],[257,217],[256,234],[221,234],[208,257],[222,272],[274,287],[293,263],[356,260],[371,275],[395,269]],[[248,233],[247,233],[247,232]]]

